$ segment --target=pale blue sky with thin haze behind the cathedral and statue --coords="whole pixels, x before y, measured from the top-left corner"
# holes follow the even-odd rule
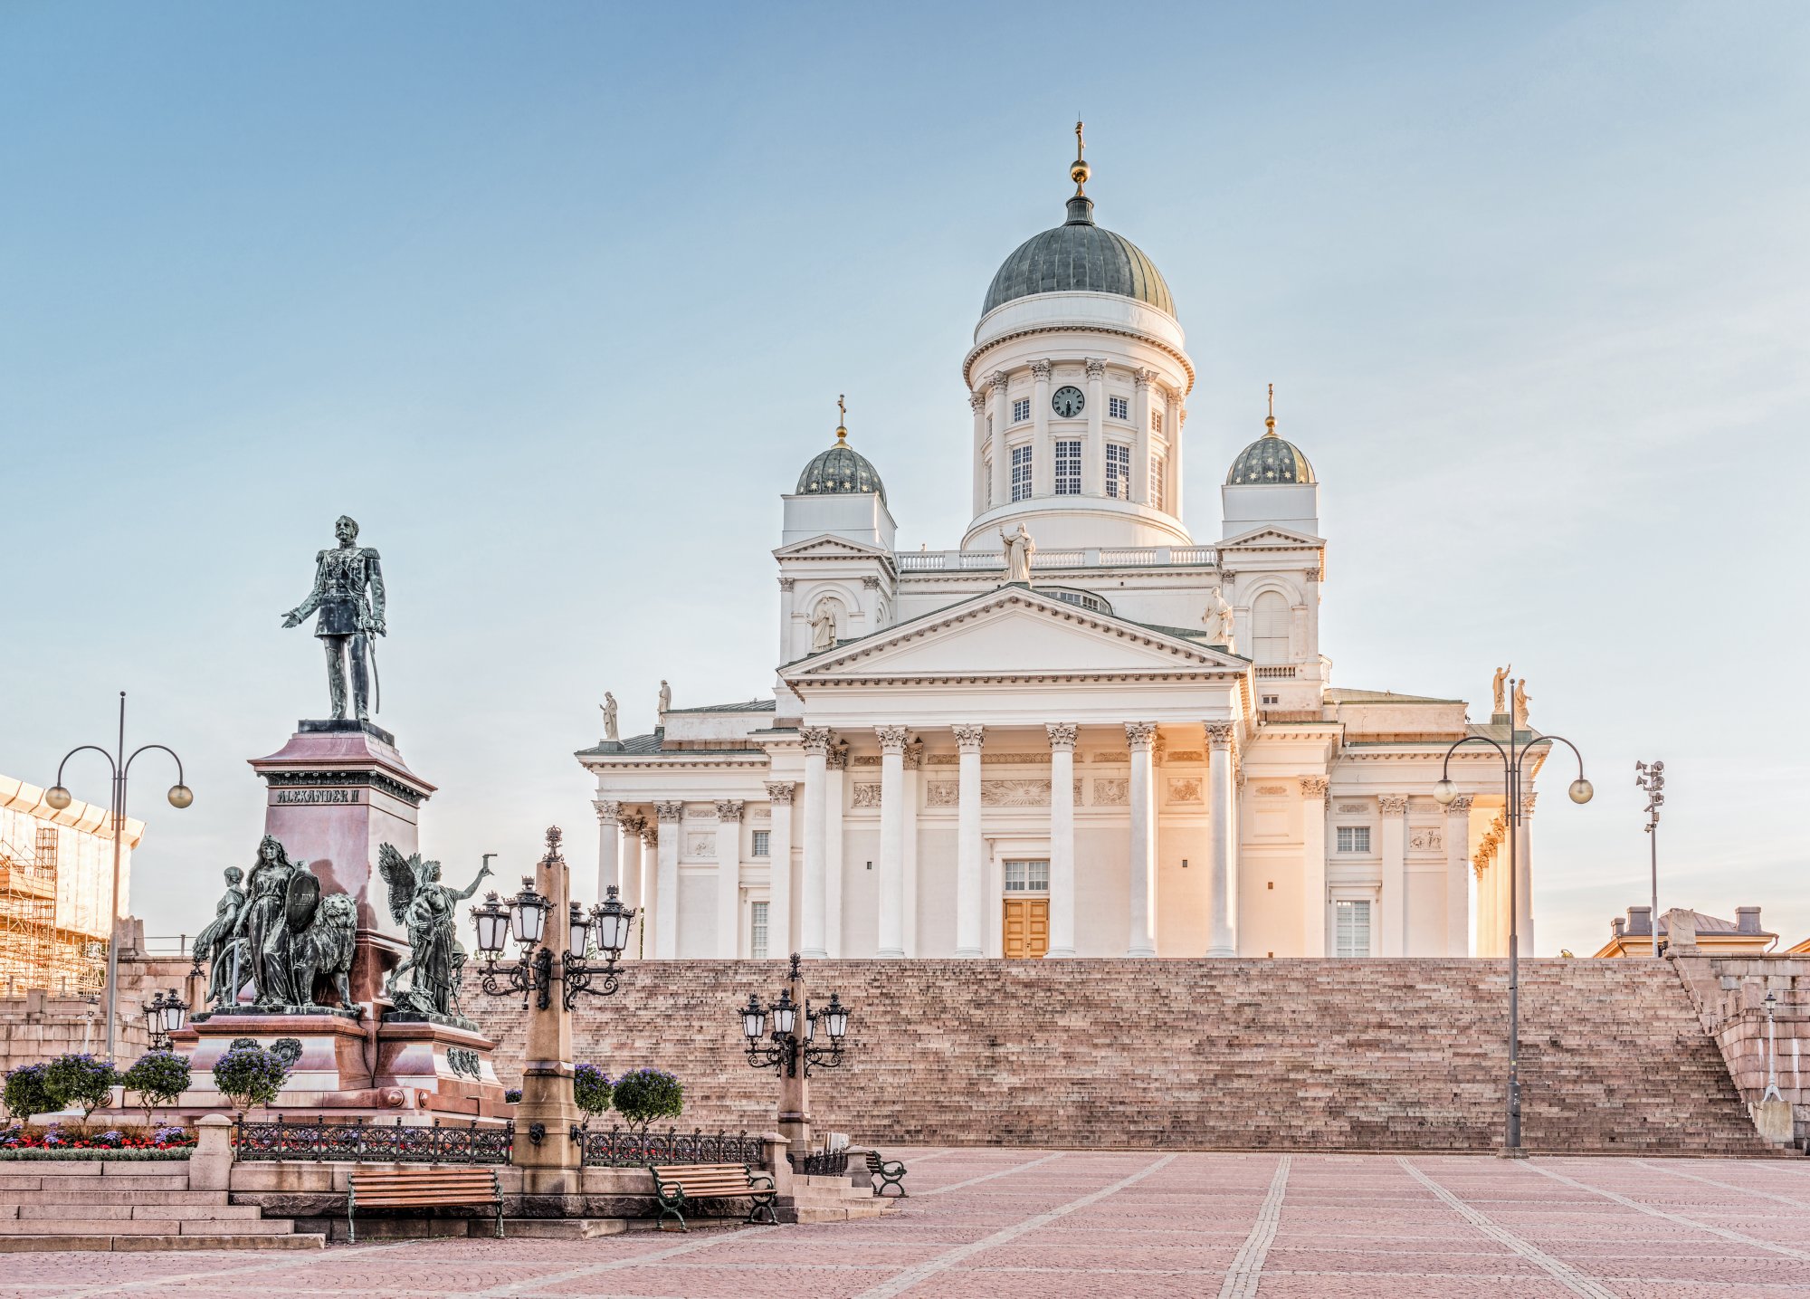
[[[112,735],[134,910],[212,915],[246,758],[324,711],[281,613],[384,554],[424,849],[594,859],[572,751],[762,695],[778,496],[836,393],[900,543],[959,543],[959,360],[1062,215],[1162,268],[1200,367],[1187,523],[1281,431],[1323,481],[1343,686],[1529,678],[1537,950],[1647,896],[1805,888],[1810,7],[0,5],[0,771]],[[69,785],[105,800],[85,758]],[[148,760],[147,760],[148,762]]]

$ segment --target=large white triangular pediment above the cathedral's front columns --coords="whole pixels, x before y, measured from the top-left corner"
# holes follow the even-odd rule
[[[1242,677],[1236,655],[1091,613],[1024,586],[927,613],[804,659],[793,689],[872,680],[1113,680]]]

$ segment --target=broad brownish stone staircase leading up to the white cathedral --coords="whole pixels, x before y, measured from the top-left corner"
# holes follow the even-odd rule
[[[1488,1151],[1502,1134],[1506,962],[816,961],[854,1010],[847,1066],[813,1076],[820,1131],[858,1142]],[[764,1131],[735,1008],[778,961],[646,961],[585,999],[577,1058],[686,1084],[686,1125]],[[467,1013],[521,1069],[519,999]],[[1761,1154],[1721,1053],[1669,964],[1522,962],[1526,1143]]]

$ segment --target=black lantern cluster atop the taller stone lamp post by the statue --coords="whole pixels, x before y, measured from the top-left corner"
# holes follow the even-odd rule
[[[559,830],[547,832],[547,850],[557,854]],[[579,993],[610,997],[619,990],[623,972],[617,961],[628,946],[628,926],[635,919],[635,908],[623,906],[615,885],[610,885],[608,897],[588,914],[572,903],[563,934],[565,950],[557,959],[545,941],[547,915],[552,908],[554,903],[538,894],[534,879],[527,876],[521,879],[521,892],[507,903],[491,892],[483,903],[471,908],[478,928],[480,986],[487,995],[521,993],[523,1010],[532,995],[536,1010],[547,1010],[552,1006],[552,986],[559,982],[563,988],[559,1006],[572,1010]],[[500,964],[509,937],[516,939],[519,952],[512,962]],[[603,962],[597,964],[592,955],[603,955]]]

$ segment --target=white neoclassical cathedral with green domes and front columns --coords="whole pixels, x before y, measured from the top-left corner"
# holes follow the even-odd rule
[[[1432,798],[1510,716],[1332,684],[1319,481],[1274,414],[1189,536],[1176,306],[1072,175],[963,358],[959,548],[896,550],[838,427],[782,498],[773,698],[662,689],[653,735],[577,754],[599,890],[641,957],[1500,955],[1515,872],[1531,952],[1495,751]]]

